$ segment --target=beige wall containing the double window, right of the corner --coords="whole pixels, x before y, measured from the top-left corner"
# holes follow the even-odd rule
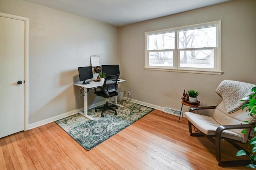
[[[144,70],[144,33],[222,20],[222,75]],[[219,104],[222,80],[256,84],[256,0],[235,0],[120,28],[120,69],[131,98],[180,109],[183,90],[196,89],[202,106]],[[126,96],[126,94],[125,94]],[[188,111],[188,107],[184,108]]]

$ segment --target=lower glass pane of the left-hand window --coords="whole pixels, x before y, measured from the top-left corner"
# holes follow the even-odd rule
[[[173,66],[173,51],[149,52],[150,66]]]

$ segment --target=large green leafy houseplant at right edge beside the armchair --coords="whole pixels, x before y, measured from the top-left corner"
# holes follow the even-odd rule
[[[246,111],[249,112],[248,115],[256,118],[256,86],[252,88],[252,94],[250,94],[246,98],[243,98],[241,101],[246,101],[242,106],[242,110],[244,108],[247,108]],[[242,123],[249,123],[249,122],[244,121]],[[247,154],[244,150],[239,150],[236,156],[247,155],[251,160],[251,164],[248,164],[247,167],[256,169],[256,164],[255,164],[256,162],[256,122],[254,123],[254,126],[252,126],[252,128],[254,129],[253,136],[250,140],[248,139],[248,148],[249,148],[250,154]],[[243,129],[242,133],[246,133],[246,129]]]

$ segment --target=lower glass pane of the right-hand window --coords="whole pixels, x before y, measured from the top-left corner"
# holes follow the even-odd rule
[[[180,67],[214,68],[214,49],[180,50]]]

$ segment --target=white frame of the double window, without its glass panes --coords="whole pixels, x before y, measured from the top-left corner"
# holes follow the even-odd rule
[[[187,29],[196,29],[200,27],[216,26],[217,37],[216,37],[216,47],[203,47],[203,48],[186,48],[178,49],[178,31]],[[199,74],[222,74],[222,21],[212,21],[208,23],[200,23],[196,25],[188,25],[184,27],[176,27],[171,29],[162,29],[158,31],[145,32],[145,70],[159,70],[159,71],[172,71],[172,72],[189,72],[189,73],[199,73]],[[166,50],[148,50],[148,36],[154,34],[175,32],[175,49]],[[190,68],[190,67],[180,67],[180,51],[184,50],[200,50],[200,49],[214,49],[214,68]],[[149,53],[152,51],[173,51],[173,66],[150,66],[149,65]]]

